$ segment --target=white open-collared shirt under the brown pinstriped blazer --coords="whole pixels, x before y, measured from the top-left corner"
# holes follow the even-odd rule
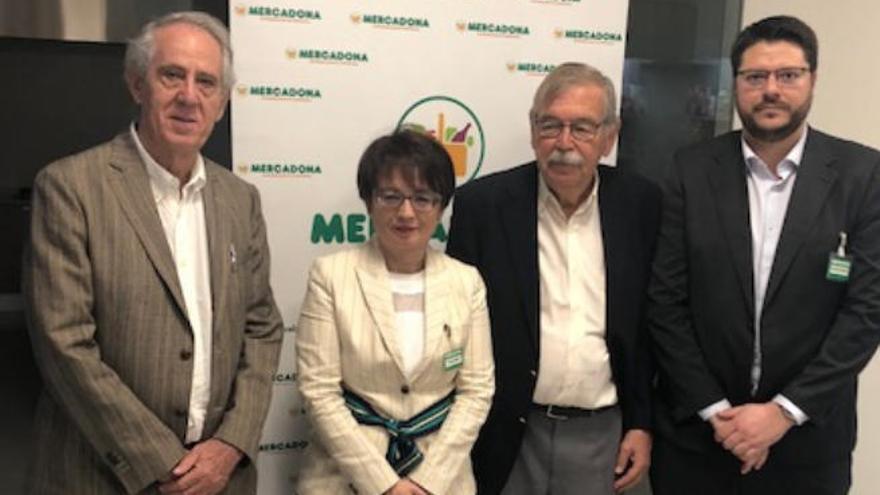
[[[147,167],[156,208],[165,230],[165,238],[174,264],[186,314],[193,332],[193,373],[186,424],[186,442],[202,437],[208,400],[211,396],[211,272],[208,255],[208,231],[202,190],[207,182],[205,161],[196,160],[189,182],[180,181],[156,163],[138,137],[134,124],[131,135]]]

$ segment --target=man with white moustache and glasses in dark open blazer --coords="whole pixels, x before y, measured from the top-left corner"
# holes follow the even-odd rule
[[[472,459],[480,494],[611,494],[651,449],[643,318],[659,189],[599,166],[611,81],[557,67],[530,112],[536,161],[455,196],[447,251],[486,282],[496,394]]]

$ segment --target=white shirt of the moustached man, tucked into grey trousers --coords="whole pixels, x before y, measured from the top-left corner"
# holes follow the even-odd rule
[[[539,179],[541,354],[532,396],[538,404],[596,409],[617,403],[605,342],[605,251],[598,190],[597,174],[589,197],[566,218]]]

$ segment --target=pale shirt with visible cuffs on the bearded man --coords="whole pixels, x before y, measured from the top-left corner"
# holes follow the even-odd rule
[[[752,395],[757,392],[761,380],[763,359],[761,355],[761,314],[764,310],[767,282],[770,280],[773,260],[776,257],[776,247],[779,244],[779,235],[782,233],[788,202],[797,179],[797,169],[804,155],[806,141],[807,131],[805,128],[801,138],[776,166],[776,173],[773,173],[770,167],[746,143],[745,139],[742,140],[749,194],[752,279],[755,296],[755,338],[751,369]],[[809,419],[799,407],[784,395],[778,394],[773,400],[784,407],[797,424],[802,424]],[[700,415],[704,419],[708,419],[715,413],[729,407],[730,403],[727,400],[719,401],[703,409]]]

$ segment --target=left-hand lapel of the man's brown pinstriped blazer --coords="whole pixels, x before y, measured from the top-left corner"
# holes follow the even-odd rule
[[[116,195],[120,208],[131,223],[132,229],[162,281],[171,292],[181,314],[186,315],[180,279],[174,266],[171,248],[168,247],[165,230],[162,228],[162,221],[159,219],[159,212],[156,210],[156,200],[153,198],[147,169],[128,134],[122,134],[113,141],[110,166],[118,172],[110,175],[110,187]]]

